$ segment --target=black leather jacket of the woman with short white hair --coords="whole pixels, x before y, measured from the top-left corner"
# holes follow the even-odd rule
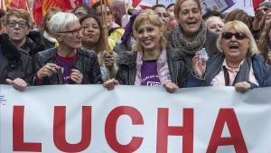
[[[34,58],[34,69],[38,72],[46,63],[57,64],[57,48],[51,48],[43,52],[37,53]],[[73,63],[73,68],[79,70],[83,74],[82,84],[100,84],[102,83],[100,68],[98,64],[97,54],[93,51],[85,49],[77,50],[77,59]],[[39,82],[34,79],[34,85],[39,85]],[[74,83],[71,81],[71,83]],[[42,84],[64,84],[61,70],[51,77],[43,78]]]

